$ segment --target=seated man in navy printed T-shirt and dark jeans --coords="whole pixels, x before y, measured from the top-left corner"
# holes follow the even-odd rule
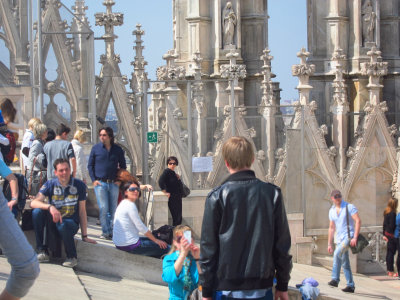
[[[96,243],[87,237],[86,185],[71,177],[71,167],[67,159],[56,159],[53,166],[56,178],[47,181],[31,202],[31,207],[36,208],[32,214],[36,247],[39,251],[43,250],[44,220],[46,211],[49,211],[64,242],[67,259],[63,266],[73,268],[77,265],[74,235],[78,232],[79,224],[82,240]],[[46,196],[50,199],[49,204],[44,203]],[[41,254],[39,252],[39,259]]]

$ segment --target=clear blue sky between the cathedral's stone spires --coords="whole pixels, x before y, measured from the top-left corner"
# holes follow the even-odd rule
[[[135,37],[132,31],[137,23],[142,24],[145,30],[144,56],[148,62],[147,72],[151,79],[155,79],[155,70],[164,64],[162,55],[172,48],[172,0],[114,0],[114,12],[124,13],[124,24],[115,28],[118,39],[115,42],[115,51],[121,56],[120,68],[123,74],[132,72],[130,62],[133,61],[135,53],[132,49]],[[71,7],[75,1],[64,0],[67,7]],[[68,3],[71,3],[68,5]],[[89,7],[87,16],[90,25],[99,37],[104,29],[94,26],[94,14],[104,12],[103,0],[86,1]],[[299,59],[296,53],[307,44],[306,27],[306,1],[305,0],[269,0],[269,46],[272,61],[272,71],[277,75],[274,79],[281,83],[282,100],[295,99],[298,97],[297,78],[291,75],[291,66],[297,64]],[[95,42],[96,62],[100,54],[104,53],[104,43]],[[99,65],[96,66],[98,74]]]

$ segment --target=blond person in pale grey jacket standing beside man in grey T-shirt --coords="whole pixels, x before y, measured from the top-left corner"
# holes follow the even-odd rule
[[[36,196],[40,187],[47,181],[47,159],[43,151],[47,138],[46,125],[40,123],[34,126],[33,135],[35,140],[29,150],[26,179],[28,181],[29,195]]]

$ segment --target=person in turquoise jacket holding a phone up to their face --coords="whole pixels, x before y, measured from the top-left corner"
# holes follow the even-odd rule
[[[200,249],[188,241],[185,232],[189,231],[192,236],[192,229],[186,225],[178,225],[174,229],[172,247],[168,255],[163,259],[162,279],[168,283],[169,300],[186,300],[199,282]]]

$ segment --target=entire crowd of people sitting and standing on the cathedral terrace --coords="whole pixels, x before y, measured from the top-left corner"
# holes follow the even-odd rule
[[[274,283],[275,299],[288,299],[291,237],[282,193],[279,187],[256,178],[251,170],[254,149],[246,138],[232,137],[222,147],[229,177],[206,198],[197,245],[192,229],[182,225],[182,182],[176,172],[177,157],[167,158],[167,167],[158,182],[168,198],[174,227],[172,241],[167,242],[153,235],[140,218],[135,203],[142,190],[153,187],[140,184],[126,170],[124,151],[115,143],[110,127],[99,130],[99,143],[86,159],[82,130],[69,141],[71,129],[67,125],[60,124],[54,133],[40,119],[32,118],[22,139],[20,156],[31,198],[34,251],[10,213],[18,204],[20,191],[5,158],[9,156],[6,150],[12,148],[7,134],[8,124],[16,128],[12,125],[15,114],[9,107],[4,113],[0,111],[0,175],[11,190],[9,199],[0,192],[0,246],[13,268],[0,299],[26,295],[39,274],[38,262],[50,261],[49,239],[55,238],[49,234],[51,230],[64,244],[65,267],[78,263],[74,236],[79,228],[84,242],[96,243],[87,233],[89,178],[99,207],[99,238],[112,240],[122,251],[162,258],[162,279],[168,284],[169,299],[273,299]],[[348,252],[358,242],[361,219],[357,208],[344,201],[339,190],[331,192],[331,201],[327,251],[333,253],[333,268],[328,285],[339,286],[343,268],[343,291],[354,293]],[[399,275],[394,269],[394,257],[400,250],[397,207],[397,200],[390,199],[383,223],[387,272],[396,277]],[[400,268],[399,256],[396,268]]]

